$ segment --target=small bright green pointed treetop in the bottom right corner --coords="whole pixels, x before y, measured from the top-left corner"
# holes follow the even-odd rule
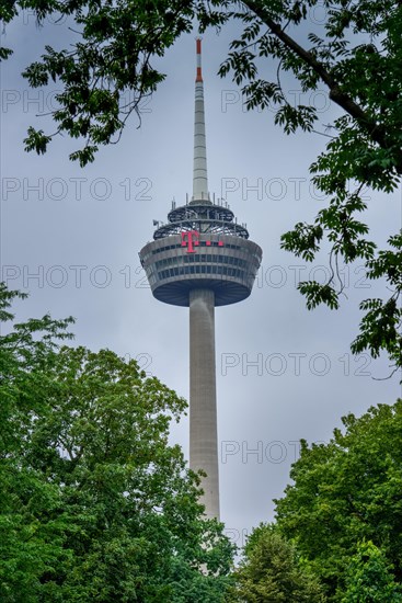
[[[360,543],[347,569],[346,594],[342,603],[399,603],[402,591],[395,584],[387,560],[371,542]]]

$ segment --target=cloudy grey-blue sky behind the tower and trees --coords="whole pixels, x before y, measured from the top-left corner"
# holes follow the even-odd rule
[[[323,19],[315,10],[310,29]],[[140,128],[133,116],[119,145],[102,149],[84,170],[68,160],[77,144],[66,137],[44,157],[24,152],[22,143],[28,125],[51,130],[48,117],[35,115],[55,106],[60,87],[30,90],[20,73],[45,43],[66,47],[72,35],[66,23],[38,29],[28,12],[2,35],[14,49],[1,71],[2,278],[30,293],[18,304],[19,319],[72,315],[76,344],[137,357],[187,398],[188,310],[153,299],[138,251],[152,238],[152,219],[164,220],[172,200],[184,204],[192,192],[195,33],[159,61],[168,77],[143,103]],[[389,375],[387,359],[349,351],[358,302],[387,295],[383,284],[367,282],[358,263],[346,268],[338,311],[308,311],[296,289],[299,280],[321,281],[328,270],[328,249],[313,264],[279,249],[280,235],[325,203],[309,166],[328,139],[286,136],[271,111],[242,107],[236,84],[216,75],[233,35],[234,26],[204,35],[203,72],[210,192],[228,201],[264,253],[251,297],[216,310],[221,517],[241,545],[252,526],[273,519],[272,499],[289,482],[301,437],[328,441],[342,416],[392,403],[401,391],[398,375],[372,378]],[[263,69],[269,77],[276,65]],[[337,115],[324,88],[301,95],[294,80],[284,86],[289,102],[300,95],[320,107],[320,129]],[[401,226],[400,191],[366,195],[372,238],[386,244]],[[186,419],[172,441],[187,456]]]

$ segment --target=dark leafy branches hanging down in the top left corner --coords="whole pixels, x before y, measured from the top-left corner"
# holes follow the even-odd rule
[[[31,127],[25,148],[43,153],[55,135],[66,133],[82,140],[70,159],[83,167],[94,160],[100,145],[118,141],[133,112],[140,116],[140,102],[164,79],[151,59],[191,31],[192,7],[163,0],[71,0],[14,2],[14,10],[27,5],[39,21],[53,12],[68,16],[71,45],[59,50],[46,46],[41,60],[23,72],[33,88],[57,81],[62,89],[56,95],[59,106],[51,112],[56,132],[47,135]]]

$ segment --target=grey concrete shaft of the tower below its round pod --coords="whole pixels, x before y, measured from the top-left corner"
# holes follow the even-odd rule
[[[189,292],[189,467],[204,469],[205,513],[219,520],[215,294]]]

